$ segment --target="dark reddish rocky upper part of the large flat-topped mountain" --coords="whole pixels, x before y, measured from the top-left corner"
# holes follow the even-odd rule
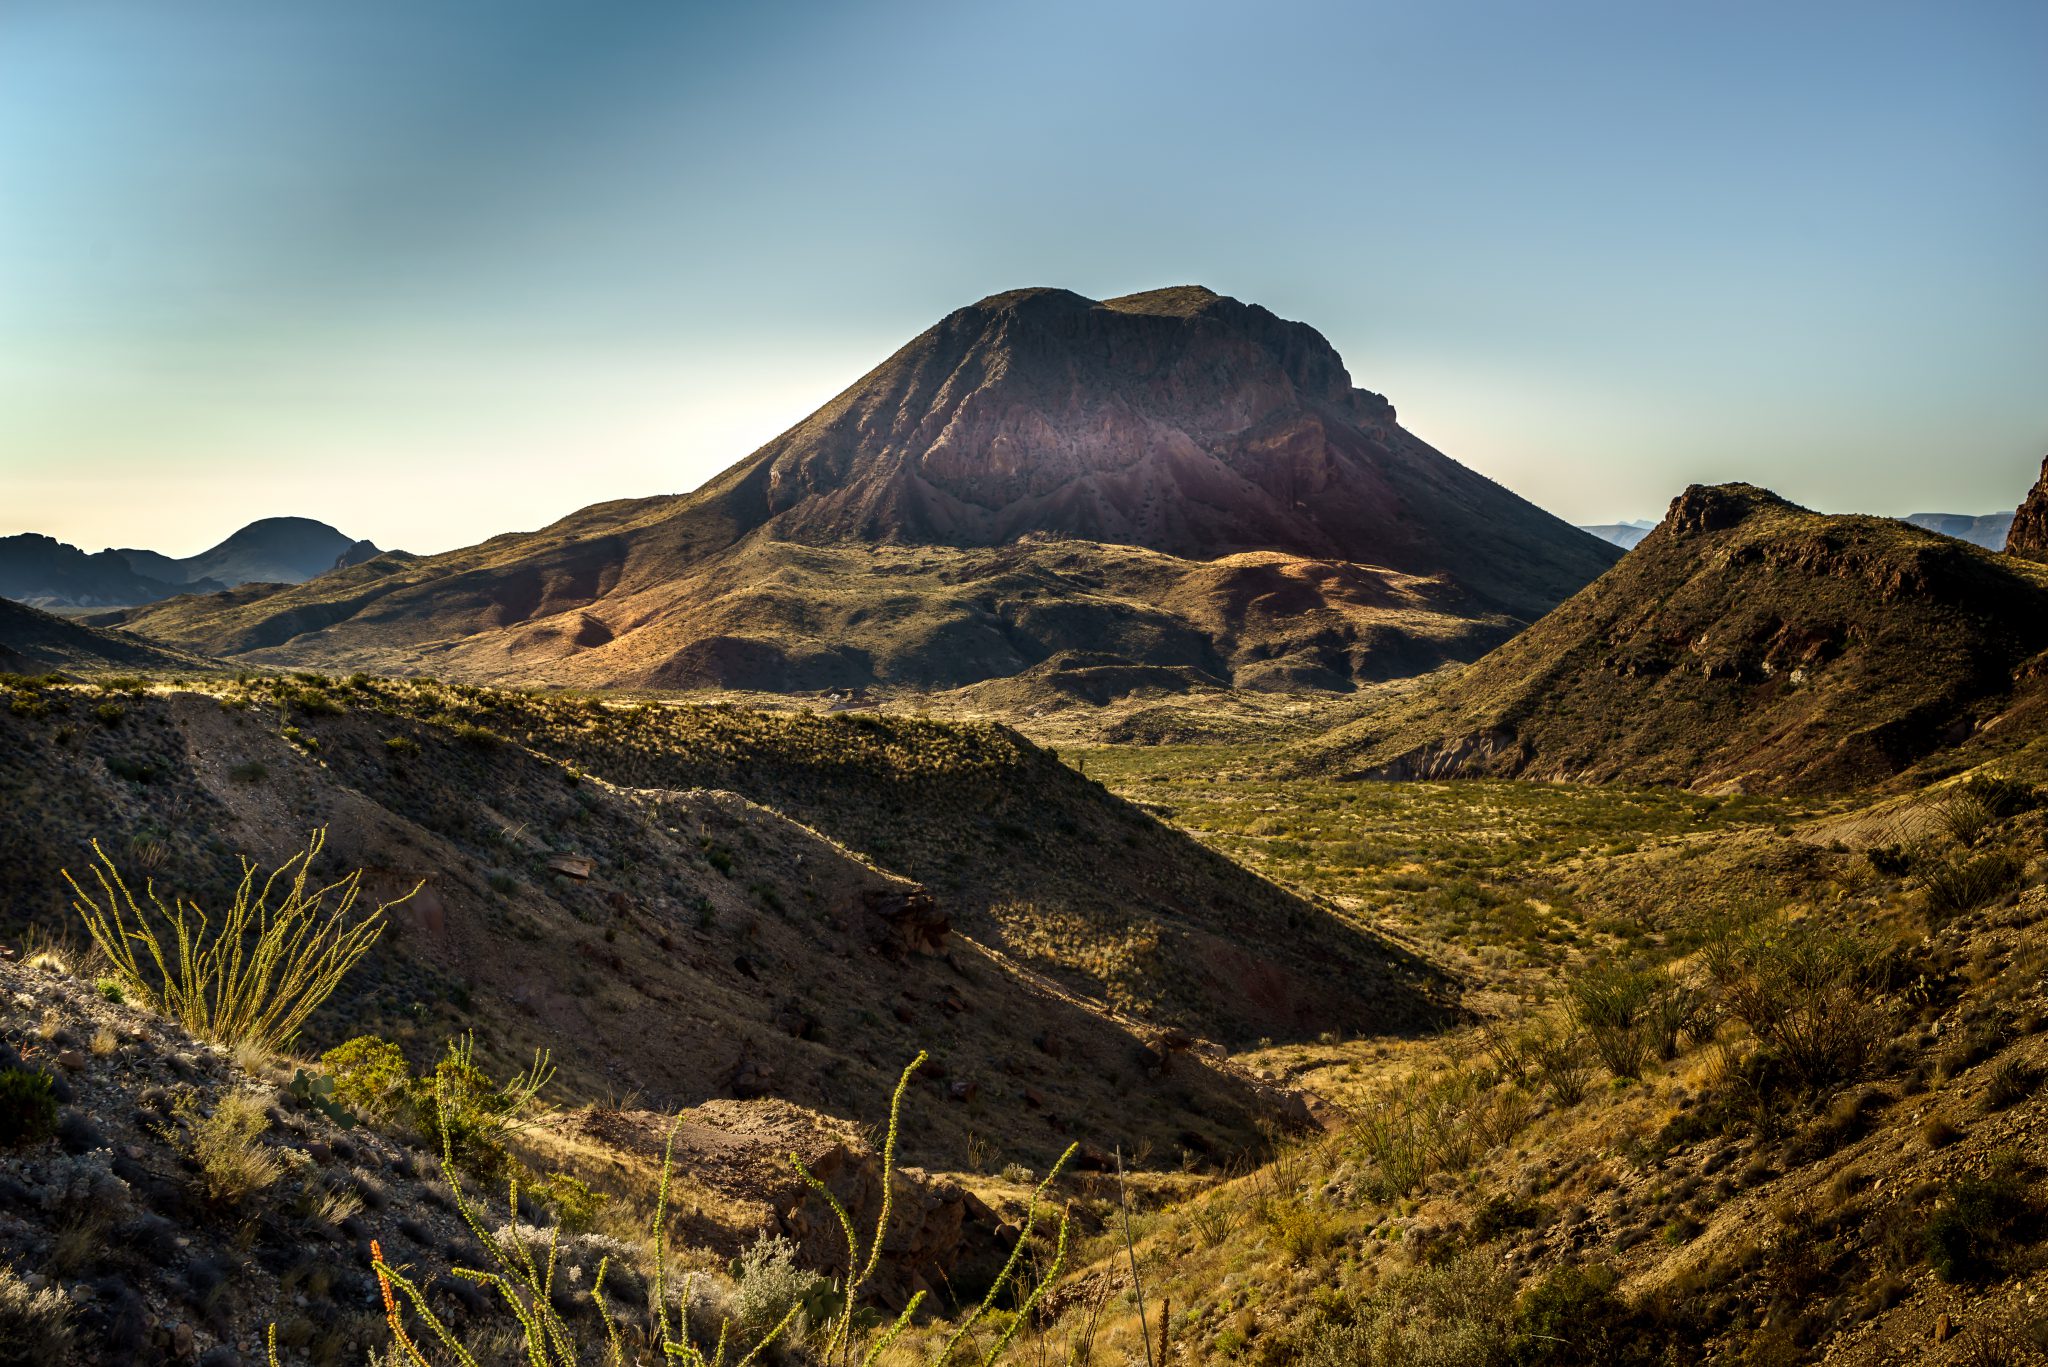
[[[711,490],[793,541],[1266,549],[1450,572],[1518,611],[1610,560],[1405,432],[1315,328],[1198,285],[956,309]]]

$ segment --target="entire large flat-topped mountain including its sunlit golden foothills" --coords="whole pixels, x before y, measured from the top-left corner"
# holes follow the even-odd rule
[[[1401,430],[1303,324],[1034,289],[696,494],[129,621],[473,680],[958,687],[1079,650],[1348,687],[1473,658],[1616,555]]]

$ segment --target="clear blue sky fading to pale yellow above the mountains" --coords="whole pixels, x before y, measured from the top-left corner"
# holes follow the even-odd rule
[[[0,533],[444,549],[1202,283],[1573,521],[2048,451],[2048,4],[0,4]]]

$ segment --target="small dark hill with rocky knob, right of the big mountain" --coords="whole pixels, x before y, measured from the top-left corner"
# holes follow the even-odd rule
[[[1747,484],[1696,486],[1513,641],[1294,762],[1845,789],[1993,728],[2044,648],[2048,574],[2023,562]]]

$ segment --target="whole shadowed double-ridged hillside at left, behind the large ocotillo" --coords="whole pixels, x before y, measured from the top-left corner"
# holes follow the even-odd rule
[[[1407,955],[995,728],[375,680],[10,699],[16,928],[68,920],[88,836],[201,904],[236,851],[313,824],[375,894],[424,881],[315,1043],[477,1025],[502,1060],[553,1049],[580,1096],[842,1115],[928,1047],[956,1103],[928,1156],[1001,1127],[1026,1160],[1102,1133],[1178,1162],[1300,1117],[1204,1037],[1442,1014]]]

